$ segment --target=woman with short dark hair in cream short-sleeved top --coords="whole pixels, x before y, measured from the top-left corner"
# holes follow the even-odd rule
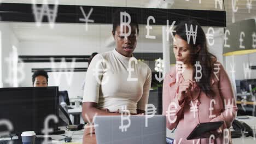
[[[130,14],[130,27],[120,25],[120,14],[124,11]],[[131,33],[128,35],[129,28]],[[137,45],[138,32],[136,16],[129,10],[114,13],[112,35],[115,47],[112,51],[92,58],[86,73],[82,109],[85,122],[92,122],[95,115],[120,116],[120,110],[125,105],[132,115],[145,112],[152,74],[147,64],[137,61],[132,55]],[[134,71],[129,72],[129,68]],[[95,70],[102,71],[102,74],[97,75]],[[129,77],[137,80],[130,81]],[[96,143],[95,131],[90,131],[86,126],[83,143]]]

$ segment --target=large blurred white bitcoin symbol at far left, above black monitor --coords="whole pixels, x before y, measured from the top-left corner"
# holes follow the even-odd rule
[[[13,87],[18,87],[18,83],[20,83],[25,78],[25,73],[23,71],[24,63],[18,62],[20,61],[18,58],[18,50],[15,46],[13,46],[13,52],[10,53],[9,57],[5,58],[5,61],[8,63],[8,78],[5,82],[9,83],[9,85],[13,85]],[[18,78],[18,72],[20,73],[20,77]]]

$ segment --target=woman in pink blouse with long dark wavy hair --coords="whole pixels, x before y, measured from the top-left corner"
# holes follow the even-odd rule
[[[194,39],[186,34],[191,26],[197,32]],[[184,21],[174,31],[173,52],[177,64],[166,74],[163,86],[162,113],[166,116],[167,128],[176,128],[176,143],[232,143],[229,128],[236,117],[237,106],[226,71],[216,56],[208,52],[199,23]],[[216,121],[224,122],[217,130],[218,135],[187,140],[198,123]]]

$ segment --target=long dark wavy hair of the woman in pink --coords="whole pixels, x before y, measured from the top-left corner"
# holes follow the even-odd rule
[[[190,64],[195,65],[197,61],[200,62],[202,67],[202,78],[199,82],[196,82],[197,86],[199,86],[205,94],[210,97],[214,98],[214,91],[211,87],[211,75],[213,73],[213,63],[216,62],[216,56],[208,51],[205,32],[203,32],[202,27],[199,23],[195,20],[187,20],[179,23],[175,28],[174,31],[181,37],[183,40],[188,41],[187,34],[186,34],[186,26],[188,31],[190,31],[190,26],[193,27],[193,31],[195,31],[197,26],[197,36],[195,44],[193,43],[193,37],[190,37]],[[197,47],[200,46],[200,50],[197,52]],[[195,67],[193,67],[193,77],[195,76]]]

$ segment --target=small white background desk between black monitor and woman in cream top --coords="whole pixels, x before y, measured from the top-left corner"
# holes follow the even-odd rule
[[[75,107],[72,106],[73,109],[68,109],[69,117],[74,124],[84,123],[82,118],[82,106]]]

